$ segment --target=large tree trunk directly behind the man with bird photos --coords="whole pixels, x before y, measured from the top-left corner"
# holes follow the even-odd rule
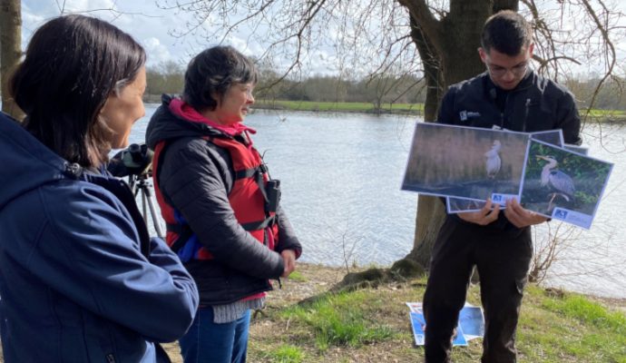
[[[450,12],[440,20],[425,0],[398,0],[411,16],[411,36],[424,64],[426,86],[425,121],[436,118],[436,109],[449,84],[484,72],[478,56],[484,21],[502,9],[517,10],[518,0],[450,0]],[[406,259],[428,268],[433,245],[445,218],[439,198],[420,195],[417,199],[416,233],[413,250]]]

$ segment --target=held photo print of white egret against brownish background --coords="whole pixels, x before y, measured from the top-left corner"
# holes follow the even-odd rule
[[[519,195],[529,133],[416,123],[402,189],[486,200]]]

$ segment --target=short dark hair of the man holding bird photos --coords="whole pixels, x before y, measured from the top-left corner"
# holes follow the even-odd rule
[[[533,27],[522,15],[502,10],[491,15],[484,23],[481,44],[485,52],[492,49],[515,56],[528,49],[533,41]]]

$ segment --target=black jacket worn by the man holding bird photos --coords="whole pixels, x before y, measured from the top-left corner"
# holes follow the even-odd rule
[[[451,85],[437,123],[489,129],[495,125],[518,132],[562,129],[565,143],[581,144],[581,119],[572,93],[532,71],[511,91],[496,87],[486,72]],[[467,223],[456,214],[449,217]],[[502,212],[487,227],[519,232]]]

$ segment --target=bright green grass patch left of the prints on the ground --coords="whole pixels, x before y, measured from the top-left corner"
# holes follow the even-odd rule
[[[324,351],[331,346],[359,347],[390,338],[391,329],[367,319],[364,309],[365,306],[372,309],[380,304],[382,301],[357,291],[332,295],[308,306],[295,306],[280,315],[313,329],[316,345]]]

